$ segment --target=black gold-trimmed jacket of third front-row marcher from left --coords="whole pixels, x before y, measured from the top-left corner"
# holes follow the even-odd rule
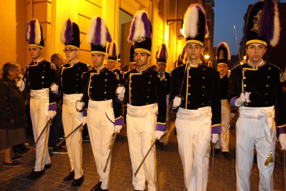
[[[83,96],[85,109],[88,108],[89,100],[105,101],[112,99],[114,118],[116,120],[121,117],[122,106],[116,101],[117,96],[115,94],[119,81],[112,71],[105,66],[101,69],[92,68],[92,70],[82,74],[82,84],[83,88],[87,85],[87,90]]]

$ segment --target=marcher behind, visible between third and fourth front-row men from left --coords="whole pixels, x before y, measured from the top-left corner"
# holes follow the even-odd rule
[[[113,51],[115,50],[115,51]],[[111,70],[112,72],[118,74],[118,80],[119,82],[122,81],[122,72],[118,69],[116,69],[117,64],[117,58],[119,55],[119,49],[117,42],[113,41],[111,44],[107,47],[107,53],[108,53],[108,60],[107,60],[107,68]],[[120,59],[120,58],[119,58]]]

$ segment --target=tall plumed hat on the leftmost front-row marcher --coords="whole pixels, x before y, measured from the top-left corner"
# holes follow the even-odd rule
[[[37,46],[44,48],[43,29],[37,19],[31,19],[27,24],[25,40],[29,42],[29,47]]]

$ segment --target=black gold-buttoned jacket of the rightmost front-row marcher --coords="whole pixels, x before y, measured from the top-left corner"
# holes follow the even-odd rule
[[[245,107],[275,107],[275,120],[278,127],[285,129],[286,117],[282,99],[282,84],[279,79],[279,70],[263,62],[259,65],[246,63],[231,71],[228,101],[236,107],[234,102],[242,92],[242,78],[244,78],[245,91],[251,92],[250,101]],[[278,128],[280,133],[282,129]]]

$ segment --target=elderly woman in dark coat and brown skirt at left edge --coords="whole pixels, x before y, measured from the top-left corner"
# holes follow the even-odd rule
[[[3,166],[21,166],[15,160],[22,156],[13,156],[11,152],[14,145],[26,141],[25,127],[27,117],[25,114],[25,100],[23,91],[25,83],[19,80],[16,84],[15,79],[19,71],[17,64],[8,62],[3,65],[2,78],[0,79],[0,149],[4,149],[5,160]]]

